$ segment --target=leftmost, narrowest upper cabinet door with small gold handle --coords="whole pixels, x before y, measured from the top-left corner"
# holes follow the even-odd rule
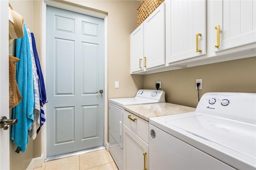
[[[130,63],[131,72],[144,69],[144,24],[140,24],[130,35]]]

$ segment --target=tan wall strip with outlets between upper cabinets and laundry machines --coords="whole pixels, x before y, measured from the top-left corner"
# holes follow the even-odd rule
[[[196,79],[203,79],[200,97],[206,92],[256,93],[256,57],[172,70],[144,76],[144,88],[154,88],[162,81],[166,102],[196,107]]]

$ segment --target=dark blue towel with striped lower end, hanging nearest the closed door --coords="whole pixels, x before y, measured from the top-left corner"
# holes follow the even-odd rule
[[[43,73],[41,70],[40,61],[39,61],[38,53],[36,50],[36,41],[35,41],[35,37],[34,37],[33,33],[31,33],[31,38],[32,38],[32,47],[33,47],[34,58],[35,58],[35,62],[36,62],[36,71],[37,71],[37,75],[38,75],[40,107],[41,107],[41,109],[40,109],[40,127],[37,129],[37,133],[38,133],[40,131],[42,125],[45,122],[43,106],[48,101],[47,101],[46,90],[45,90],[45,86],[44,86],[44,76],[43,76]]]

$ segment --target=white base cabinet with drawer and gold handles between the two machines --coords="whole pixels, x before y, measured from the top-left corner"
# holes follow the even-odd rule
[[[128,116],[130,118],[128,118]],[[148,121],[145,121],[125,110],[123,129],[124,169],[148,170],[148,143],[143,140],[145,139],[148,142]]]

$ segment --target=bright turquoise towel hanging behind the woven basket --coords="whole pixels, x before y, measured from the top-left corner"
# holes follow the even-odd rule
[[[22,99],[13,109],[13,119],[18,119],[12,125],[12,140],[21,149],[26,151],[28,144],[28,130],[34,121],[34,84],[30,44],[26,25],[24,24],[24,37],[16,40],[16,57],[20,62],[16,65],[16,79]]]

